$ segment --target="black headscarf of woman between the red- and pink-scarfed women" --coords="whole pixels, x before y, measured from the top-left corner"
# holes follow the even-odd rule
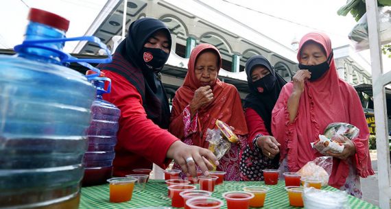
[[[270,71],[271,76],[276,77],[276,83],[271,92],[259,93],[257,87],[254,86],[252,82],[251,73],[256,66],[264,66]],[[265,122],[265,127],[268,130],[269,134],[272,134],[270,127],[270,121],[272,121],[272,110],[276,104],[277,99],[281,92],[281,88],[287,83],[274,71],[272,64],[263,56],[252,56],[246,62],[246,74],[247,74],[247,83],[248,88],[250,88],[250,94],[247,95],[246,100],[244,101],[244,108],[252,108],[261,116],[263,122]]]

